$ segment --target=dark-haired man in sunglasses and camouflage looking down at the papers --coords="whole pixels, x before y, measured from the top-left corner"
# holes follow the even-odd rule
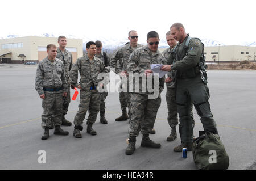
[[[148,45],[137,48],[131,53],[127,70],[129,73],[143,74],[148,79],[152,73],[151,64],[164,64],[164,57],[158,50],[159,35],[155,31],[151,31],[147,35]],[[146,76],[145,76],[146,75]],[[154,77],[155,76],[155,77]],[[142,129],[142,142],[141,146],[160,148],[160,144],[150,140],[148,133],[154,127],[156,114],[161,104],[160,92],[164,87],[164,77],[159,78],[158,75],[154,75],[152,79],[152,87],[154,87],[154,93],[158,92],[155,99],[150,98],[148,87],[146,92],[143,92],[142,80],[139,82],[139,92],[131,93],[131,121],[130,121],[130,132],[129,132],[129,145],[126,148],[126,154],[130,155],[134,153],[136,136],[138,135],[139,129]],[[157,77],[156,77],[157,76]],[[156,82],[155,82],[156,78]],[[147,82],[147,81],[146,81]],[[158,86],[155,86],[157,83]],[[135,87],[134,82],[134,87]],[[158,90],[156,90],[158,89]]]

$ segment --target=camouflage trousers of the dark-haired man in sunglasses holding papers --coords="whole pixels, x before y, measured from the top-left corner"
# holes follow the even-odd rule
[[[142,134],[149,134],[155,124],[158,108],[161,104],[161,96],[159,94],[156,99],[148,99],[146,94],[131,93],[131,121],[129,137],[138,136],[139,131]]]

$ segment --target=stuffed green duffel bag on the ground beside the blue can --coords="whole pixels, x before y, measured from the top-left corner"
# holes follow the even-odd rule
[[[229,156],[218,134],[206,132],[193,140],[192,153],[199,169],[225,170],[229,167]]]

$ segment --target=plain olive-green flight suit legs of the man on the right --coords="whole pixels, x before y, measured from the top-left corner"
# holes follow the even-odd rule
[[[177,111],[181,143],[191,143],[193,138],[193,105],[201,117],[204,131],[217,133],[216,123],[210,111],[208,87],[201,82],[200,75],[195,78],[177,80]]]

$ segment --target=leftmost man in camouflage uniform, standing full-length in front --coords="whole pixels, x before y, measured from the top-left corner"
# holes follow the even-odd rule
[[[38,64],[36,69],[35,89],[43,99],[42,128],[44,133],[42,140],[49,137],[49,127],[52,122],[55,127],[54,134],[68,135],[61,128],[61,115],[63,96],[67,96],[67,82],[63,62],[56,58],[57,47],[47,45],[48,56]]]

